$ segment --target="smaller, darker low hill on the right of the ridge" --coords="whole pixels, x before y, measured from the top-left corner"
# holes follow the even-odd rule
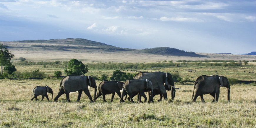
[[[175,48],[169,47],[157,47],[152,49],[142,49],[141,52],[150,53],[150,54],[160,54],[160,55],[174,55],[174,56],[192,56],[192,57],[206,57],[198,55],[192,51],[184,51]]]

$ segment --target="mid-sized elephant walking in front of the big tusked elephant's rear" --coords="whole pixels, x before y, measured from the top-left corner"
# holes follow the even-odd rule
[[[145,79],[128,79],[124,82],[123,84],[123,92],[122,96],[120,98],[120,102],[124,102],[124,96],[127,94],[130,97],[130,101],[134,102],[132,100],[132,96],[139,94],[139,102],[141,102],[141,96],[145,98],[145,101],[147,101],[147,97],[145,96],[144,92],[145,89],[150,90],[152,93],[153,91],[153,85],[152,82],[149,80]]]

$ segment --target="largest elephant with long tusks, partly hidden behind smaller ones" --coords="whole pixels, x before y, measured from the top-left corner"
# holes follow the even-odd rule
[[[172,75],[165,72],[140,72],[136,74],[133,79],[147,79],[152,82],[154,93],[149,97],[149,102],[154,102],[153,98],[156,94],[163,95],[164,99],[167,99],[167,93],[164,85],[167,85],[172,94],[172,99],[175,97],[175,88]],[[150,90],[146,89],[145,92]],[[135,96],[135,95],[134,95]],[[132,96],[132,97],[134,97]],[[129,99],[128,99],[129,100]],[[158,101],[161,101],[161,97]]]

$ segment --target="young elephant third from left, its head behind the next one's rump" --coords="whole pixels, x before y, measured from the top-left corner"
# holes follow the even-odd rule
[[[111,102],[113,102],[115,93],[117,93],[118,96],[121,98],[120,90],[122,90],[123,84],[124,82],[120,82],[120,81],[108,81],[108,80],[102,81],[98,86],[99,88],[98,93],[94,101],[96,101],[96,99],[102,95],[103,101],[107,102],[105,99],[106,94],[112,94]]]

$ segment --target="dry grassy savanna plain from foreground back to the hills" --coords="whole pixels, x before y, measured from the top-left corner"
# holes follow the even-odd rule
[[[23,50],[22,50],[23,49]],[[25,57],[29,61],[68,61],[75,58],[83,62],[99,61],[108,62],[156,62],[163,60],[204,60],[204,59],[234,59],[255,60],[255,56],[208,54],[210,58],[193,58],[181,56],[160,55],[135,55],[134,53],[114,53],[104,51],[40,51],[35,49],[17,48],[10,49],[15,55],[14,61]],[[72,54],[68,54],[72,53]],[[205,67],[187,66],[171,68],[138,69],[154,72],[162,71],[173,73],[178,71],[180,77],[194,81],[200,75],[223,75],[239,80],[256,81],[256,63],[249,62],[244,67]],[[34,71],[39,69],[46,75],[54,75],[54,71],[64,72],[62,68],[54,65],[16,66],[17,71]],[[115,69],[89,69],[85,75],[100,77],[102,74],[112,75]],[[128,72],[131,69],[124,69]],[[188,72],[192,70],[193,72]],[[196,72],[195,72],[196,70]],[[217,71],[217,73],[215,73]],[[246,72],[244,72],[246,71]],[[134,72],[129,72],[134,73]],[[63,74],[64,75],[64,74]],[[100,81],[96,81],[99,85]],[[80,102],[75,102],[77,92],[70,94],[72,102],[66,102],[62,95],[58,102],[31,101],[32,90],[36,86],[48,85],[54,91],[53,98],[59,91],[60,79],[43,80],[0,80],[0,127],[256,127],[256,86],[255,84],[235,84],[230,89],[230,102],[227,102],[227,89],[220,88],[218,103],[212,103],[212,96],[204,95],[206,103],[200,97],[192,103],[193,83],[175,83],[174,100],[157,102],[159,95],[154,97],[154,103],[119,103],[116,94],[110,103],[111,95],[107,95],[107,103],[99,97],[96,102],[89,103],[86,94],[82,94]],[[90,88],[93,96],[94,90]],[[51,94],[48,94],[51,97]],[[38,97],[41,99],[41,96]],[[137,98],[134,97],[134,100]]]

